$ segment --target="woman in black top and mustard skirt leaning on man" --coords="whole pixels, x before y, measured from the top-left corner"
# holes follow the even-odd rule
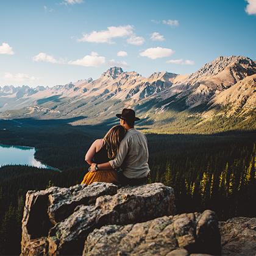
[[[94,141],[85,155],[85,161],[92,163],[105,163],[115,158],[121,140],[126,130],[123,126],[113,126],[104,138]],[[104,171],[89,171],[85,174],[81,184],[90,185],[93,182],[118,183],[117,173],[113,169]]]

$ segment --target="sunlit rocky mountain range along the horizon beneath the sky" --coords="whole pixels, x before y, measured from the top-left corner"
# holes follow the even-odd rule
[[[195,73],[143,77],[112,67],[54,87],[0,87],[0,118],[73,118],[73,124],[112,124],[124,107],[151,132],[197,133],[255,129],[256,62],[220,56]]]

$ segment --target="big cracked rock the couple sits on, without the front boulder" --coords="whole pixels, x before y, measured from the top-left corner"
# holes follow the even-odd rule
[[[82,254],[90,232],[173,215],[174,191],[162,183],[121,188],[111,183],[28,191],[21,255]]]

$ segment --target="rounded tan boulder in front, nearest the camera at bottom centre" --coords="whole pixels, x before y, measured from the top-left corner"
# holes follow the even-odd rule
[[[118,245],[118,246],[117,246]],[[221,254],[218,220],[214,212],[163,216],[126,226],[94,229],[83,255]]]

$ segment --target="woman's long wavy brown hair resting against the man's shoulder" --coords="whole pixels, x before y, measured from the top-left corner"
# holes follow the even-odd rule
[[[123,126],[113,126],[108,130],[107,134],[104,136],[104,146],[107,149],[107,155],[110,160],[116,157],[121,140],[123,140],[124,135],[126,135],[126,130]]]

